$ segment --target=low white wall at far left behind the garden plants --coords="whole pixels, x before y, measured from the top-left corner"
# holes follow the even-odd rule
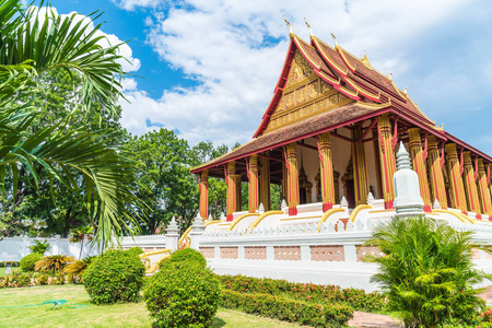
[[[69,238],[31,238],[31,237],[7,237],[0,241],[0,261],[20,261],[24,256],[31,254],[30,246],[34,245],[34,241],[48,241],[49,249],[45,253],[48,255],[67,255],[73,256],[79,259],[80,243],[70,243]],[[82,251],[82,258],[86,256],[97,255],[98,251],[95,248],[91,248],[87,242],[84,242],[84,249]]]

